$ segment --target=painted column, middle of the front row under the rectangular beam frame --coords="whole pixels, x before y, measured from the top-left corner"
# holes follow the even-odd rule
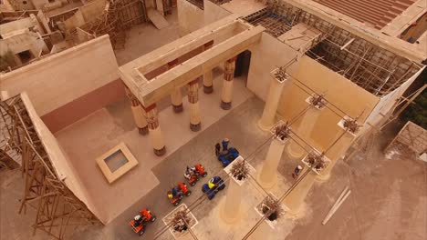
[[[199,77],[188,84],[188,104],[190,108],[190,129],[197,132],[202,126],[199,106]]]

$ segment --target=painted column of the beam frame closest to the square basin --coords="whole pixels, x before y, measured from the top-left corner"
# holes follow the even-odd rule
[[[159,115],[157,113],[156,105],[150,105],[144,108],[146,118],[150,131],[150,142],[155,155],[164,155],[166,153],[166,146],[163,143],[163,136],[161,135],[161,128],[159,125]]]

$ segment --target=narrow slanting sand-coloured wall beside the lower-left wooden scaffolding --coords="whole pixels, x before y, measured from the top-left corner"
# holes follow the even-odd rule
[[[89,199],[88,190],[82,184],[81,180],[72,165],[69,165],[68,156],[62,150],[57,142],[57,138],[47,129],[40,117],[36,114],[36,109],[32,105],[26,93],[21,94],[22,101],[26,105],[28,115],[31,117],[42,145],[45,147],[47,155],[55,167],[57,176],[68,186],[69,190],[80,199],[89,210],[99,217],[98,210]],[[103,221],[102,218],[99,220]]]

